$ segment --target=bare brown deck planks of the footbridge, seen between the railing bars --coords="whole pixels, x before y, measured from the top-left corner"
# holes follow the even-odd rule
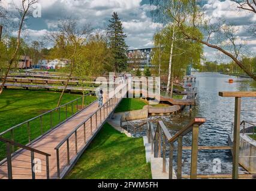
[[[107,119],[109,113],[113,112],[113,108],[115,106],[109,105],[105,109],[105,116],[102,109],[102,119],[100,120],[100,112],[98,112],[97,116],[97,125],[96,125],[96,116],[92,117],[92,133],[91,133],[91,121],[90,119],[86,122],[86,142],[91,140],[92,135],[97,132],[98,127]],[[49,153],[51,156],[49,157],[49,172],[50,178],[57,178],[57,159],[56,159],[56,150],[55,147],[70,134],[77,125],[81,124],[86,118],[91,116],[98,110],[98,103],[95,102],[91,106],[87,107],[82,112],[78,113],[73,118],[69,119],[65,124],[60,125],[54,130],[50,131],[48,134],[41,137],[39,140],[30,144],[30,147],[34,149],[41,150],[43,152]],[[75,147],[75,137],[71,135],[70,139],[70,160],[76,156],[76,147]],[[84,139],[84,130],[82,127],[77,130],[77,151],[82,149],[85,146]],[[41,159],[41,172],[36,172],[35,177],[44,179],[46,178],[46,159],[43,155],[38,155],[35,153],[35,158]],[[67,165],[67,144],[65,143],[59,149],[59,160],[60,160],[60,168],[61,171]],[[19,154],[12,158],[12,166],[13,166],[13,178],[14,179],[31,179],[31,152],[28,150],[21,150]],[[22,167],[22,168],[21,168]],[[0,179],[8,178],[7,174],[7,162],[0,166]]]

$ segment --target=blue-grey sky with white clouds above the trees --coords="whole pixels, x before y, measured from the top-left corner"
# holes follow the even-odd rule
[[[2,0],[7,6],[20,0]],[[121,17],[129,48],[153,47],[153,34],[161,29],[160,23],[153,23],[150,17],[149,0],[39,0],[41,18],[31,18],[26,22],[31,38],[38,39],[47,32],[55,30],[59,20],[73,17],[80,24],[91,23],[95,30],[104,30],[113,11]],[[230,0],[202,0],[201,6],[209,18],[221,17],[237,29],[240,39],[245,39],[249,50],[256,52],[256,38],[248,32],[256,21],[256,14],[238,11]],[[11,9],[10,4],[8,8]],[[216,51],[205,48],[204,55],[216,60]]]

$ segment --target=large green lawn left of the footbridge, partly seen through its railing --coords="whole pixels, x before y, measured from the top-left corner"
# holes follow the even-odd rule
[[[48,91],[26,91],[26,90],[4,90],[0,96],[0,132],[8,128],[27,121],[35,116],[52,110],[56,107],[61,93]],[[76,98],[82,97],[80,94],[64,94],[62,104],[68,103]],[[86,105],[96,100],[96,97],[86,97]],[[79,100],[79,106],[82,106],[82,99]],[[72,105],[67,107],[67,117],[72,115]],[[76,112],[76,104],[73,105],[73,112]],[[50,124],[50,114],[42,117],[43,133],[55,127],[59,122],[65,121],[65,107],[52,113],[52,125]],[[31,129],[31,140],[41,135],[40,118],[29,123]],[[3,137],[10,139],[11,134],[7,133]],[[28,144],[28,124],[22,125],[14,130],[14,141],[22,144]],[[5,156],[5,145],[0,142],[0,159]]]

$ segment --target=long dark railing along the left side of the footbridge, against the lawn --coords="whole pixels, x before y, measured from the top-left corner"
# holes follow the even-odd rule
[[[38,115],[28,121],[15,125],[14,127],[0,133],[0,137],[7,138],[11,141],[19,142],[20,144],[31,144],[50,130],[58,127],[72,116],[76,115],[86,107],[86,97],[79,97],[76,100],[70,101],[55,109],[49,110],[46,113]],[[12,147],[12,152],[15,152],[15,147]],[[0,144],[0,159],[4,159],[1,153],[4,153],[5,147]]]

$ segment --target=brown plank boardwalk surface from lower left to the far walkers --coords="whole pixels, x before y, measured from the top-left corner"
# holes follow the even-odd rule
[[[91,104],[82,112],[78,113],[73,118],[69,119],[64,124],[50,131],[48,134],[41,137],[39,140],[30,144],[29,147],[40,150],[44,153],[49,153],[49,175],[50,178],[58,177],[58,162],[56,154],[56,146],[61,143],[65,138],[71,134],[68,138],[68,144],[65,142],[59,147],[59,172],[64,173],[67,167],[71,167],[72,163],[76,162],[76,158],[81,154],[84,149],[91,143],[91,140],[100,131],[106,119],[109,118],[115,107],[119,104],[122,98],[125,96],[125,91],[120,93],[125,85],[119,85],[118,93],[115,93],[115,98],[107,100],[106,104],[99,110],[98,102]],[[117,96],[118,95],[118,96]],[[95,113],[98,112],[98,115]],[[99,115],[101,114],[101,115]],[[89,119],[89,120],[86,120]],[[72,134],[75,128],[83,124],[83,128],[78,128],[76,133]],[[31,154],[30,150],[21,149],[19,152],[11,158],[11,167],[13,178],[17,179],[30,179],[32,178],[31,170],[31,157],[34,155],[35,162],[34,172],[35,178],[44,179],[47,178],[47,161],[44,155],[37,153]],[[38,162],[39,161],[39,162]],[[70,162],[71,161],[71,162]],[[61,176],[63,177],[63,176]],[[7,162],[0,166],[0,179],[8,178],[8,165]]]

